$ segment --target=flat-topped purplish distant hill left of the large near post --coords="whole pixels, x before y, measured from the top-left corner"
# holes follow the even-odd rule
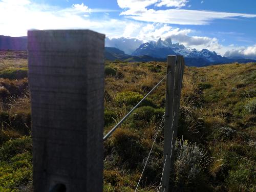
[[[0,50],[27,50],[27,37],[9,37],[0,35]]]

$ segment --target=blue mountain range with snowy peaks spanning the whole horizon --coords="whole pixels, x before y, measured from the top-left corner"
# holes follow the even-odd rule
[[[147,61],[166,61],[167,55],[183,55],[187,66],[209,66],[217,65],[219,63],[230,62],[256,62],[253,59],[245,58],[227,58],[218,55],[215,51],[203,49],[198,51],[192,48],[186,48],[178,42],[173,44],[172,39],[166,38],[162,40],[159,38],[157,41],[142,42],[140,40],[127,39],[122,37],[121,44],[118,44],[118,39],[106,37],[104,56],[106,60],[123,60],[128,62],[147,62]],[[120,42],[120,41],[119,41]],[[133,44],[133,42],[135,42]],[[125,47],[126,45],[126,47]],[[130,45],[133,45],[130,47]],[[140,45],[137,49],[136,46]],[[131,54],[126,54],[123,50]],[[8,37],[0,35],[0,50],[27,50],[27,37]],[[132,52],[132,50],[134,50]]]

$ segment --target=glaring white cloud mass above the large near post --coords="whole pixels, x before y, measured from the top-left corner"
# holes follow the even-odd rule
[[[112,10],[90,9],[84,4],[59,8],[47,4],[35,4],[28,0],[0,0],[0,34],[26,36],[29,29],[91,29],[109,36],[121,36],[125,26],[133,21],[89,17],[89,12]]]

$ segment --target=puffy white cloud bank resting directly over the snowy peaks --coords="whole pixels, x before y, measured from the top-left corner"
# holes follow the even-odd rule
[[[158,40],[160,37],[166,39],[171,37],[174,42],[179,42],[188,47],[201,49],[209,49],[224,54],[227,49],[219,44],[217,38],[206,36],[194,36],[190,29],[172,28],[167,24],[130,24],[126,27],[129,30],[124,30],[121,38],[106,39],[105,43],[108,47],[116,47],[123,50],[127,54],[131,54],[137,49],[142,42]],[[131,29],[132,28],[132,29]],[[132,40],[127,40],[132,39]]]

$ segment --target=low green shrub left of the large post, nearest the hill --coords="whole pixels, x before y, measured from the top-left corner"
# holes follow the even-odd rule
[[[0,78],[7,78],[7,79],[23,79],[28,77],[28,69],[26,68],[19,68],[19,69],[6,69],[0,71]]]

